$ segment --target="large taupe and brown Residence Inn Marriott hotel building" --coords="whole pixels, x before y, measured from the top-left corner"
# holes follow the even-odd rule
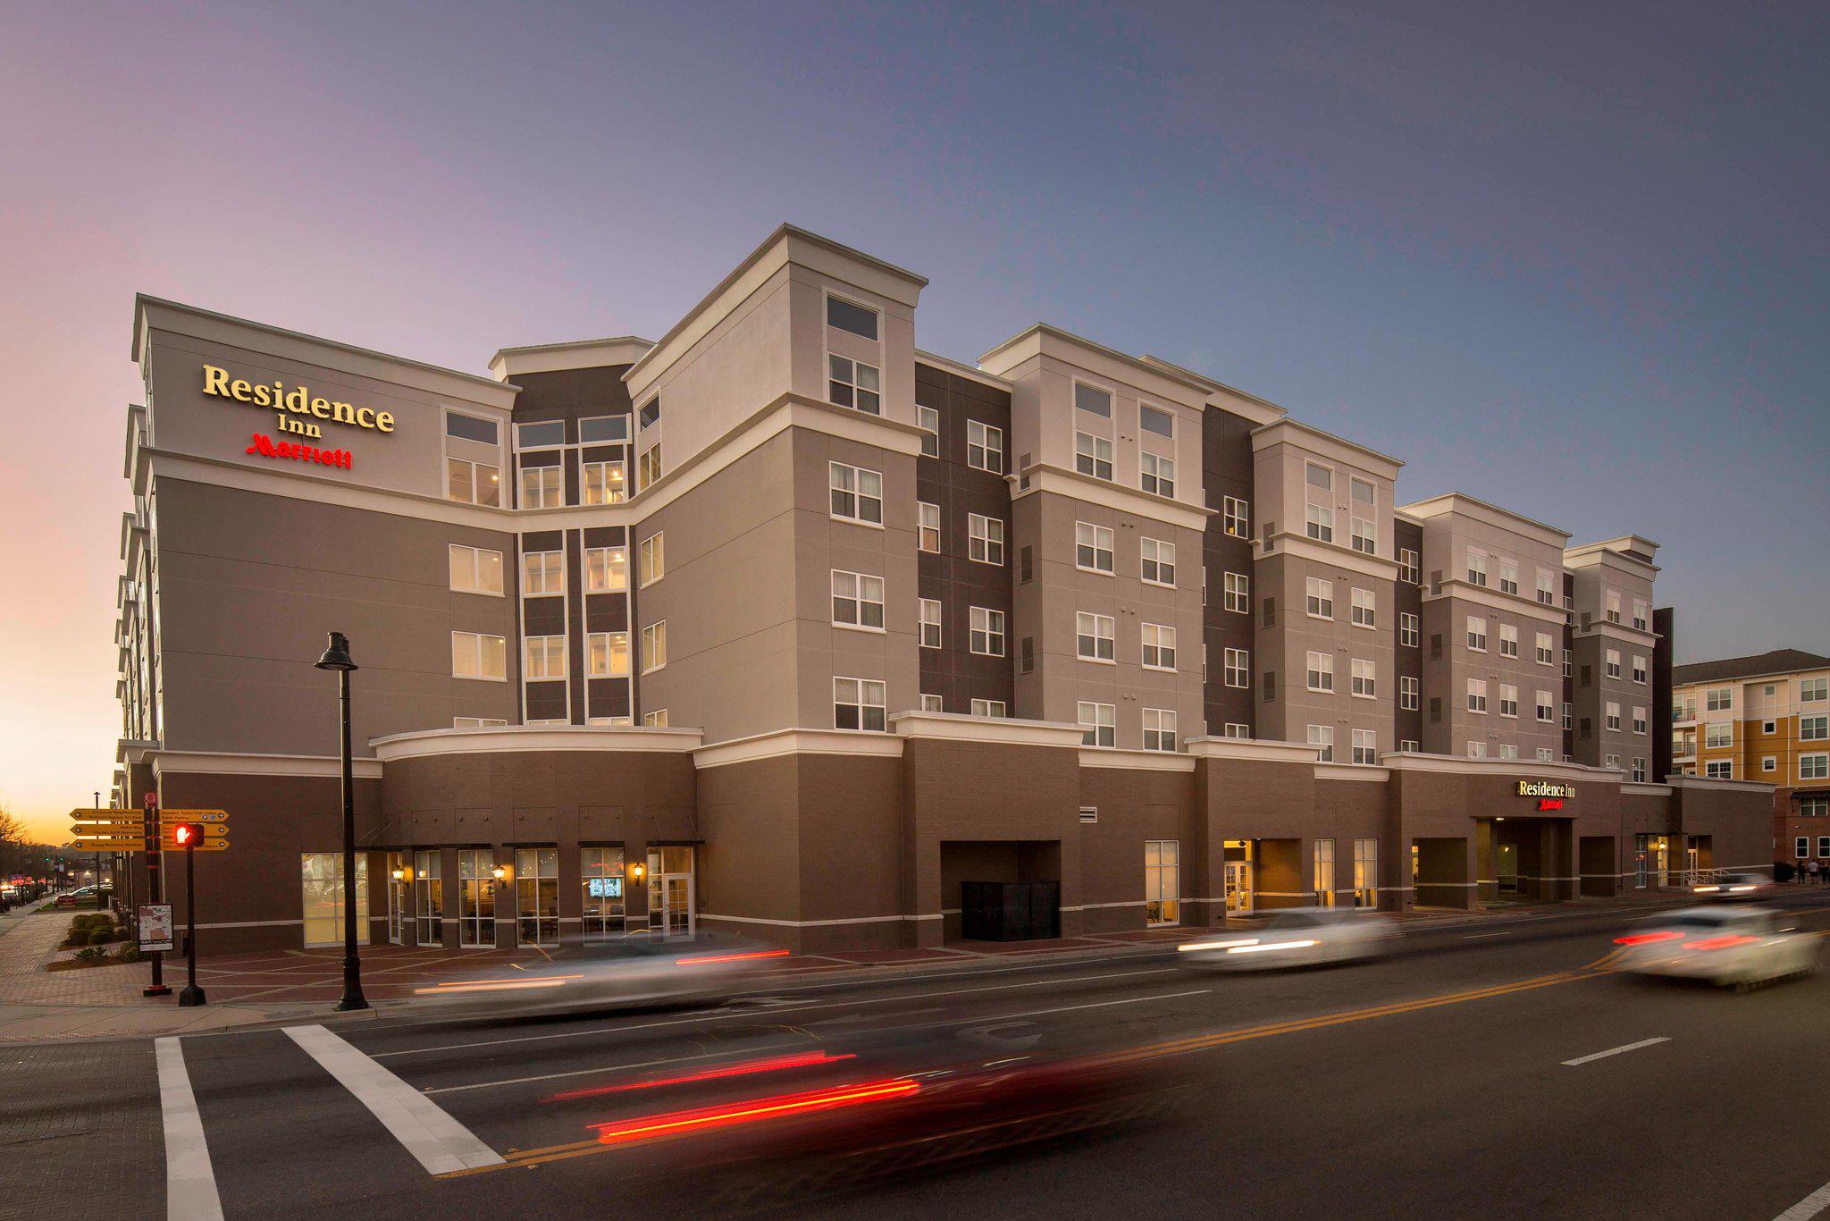
[[[115,789],[231,811],[210,945],[339,937],[333,630],[371,941],[913,946],[964,882],[1074,935],[1766,860],[1768,783],[1669,774],[1656,544],[1402,503],[1398,458],[1052,326],[922,351],[924,286],[783,225],[659,340],[487,377],[137,298]]]

